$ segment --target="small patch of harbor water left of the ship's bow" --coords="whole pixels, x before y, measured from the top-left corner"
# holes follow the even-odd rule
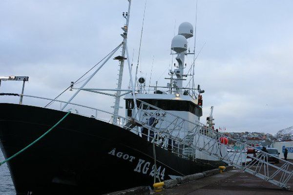
[[[0,162],[3,160],[0,150]],[[0,195],[16,195],[7,164],[0,166]]]

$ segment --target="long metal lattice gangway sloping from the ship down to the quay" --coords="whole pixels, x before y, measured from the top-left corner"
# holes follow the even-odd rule
[[[214,157],[217,160],[221,160],[227,164],[230,164],[237,169],[245,171],[246,173],[268,181],[282,189],[289,188],[289,186],[287,186],[287,183],[293,176],[293,163],[260,151],[257,148],[251,147],[231,137],[225,136],[211,128],[208,128],[202,123],[188,121],[184,118],[173,115],[165,110],[162,110],[139,99],[137,99],[137,107],[137,117],[132,116],[131,120],[134,120],[136,124],[148,129],[149,131],[160,134],[162,137],[165,137],[168,140],[172,140],[172,147],[170,147],[168,141],[167,144],[164,144],[161,147],[165,147],[165,149],[168,150],[172,148],[172,152],[177,153],[181,156],[183,156],[186,151],[198,150],[206,155]],[[159,121],[156,127],[150,126],[148,124],[148,118],[150,117],[155,117],[156,120]],[[192,129],[187,130],[186,127],[190,127],[190,125],[192,126]],[[188,133],[183,138],[179,137],[179,133],[177,137],[174,137],[171,136],[171,133],[173,131],[179,133],[180,131],[185,131]],[[228,145],[224,145],[221,142],[221,139],[223,137],[234,141],[235,144],[238,146],[238,149],[235,149]],[[205,144],[199,144],[200,139],[203,138],[207,141],[205,142]],[[221,153],[219,152],[221,150],[221,147],[226,147],[233,152]],[[246,147],[250,147],[255,149],[256,151],[259,151],[260,155],[258,157],[249,156],[251,158],[251,161],[244,161],[243,159],[247,159],[248,156],[248,154],[243,151],[243,149]],[[183,152],[178,152],[180,150]],[[190,157],[194,155],[189,154],[188,156]],[[281,166],[279,167],[271,164],[269,162],[270,157],[277,158],[281,163]]]

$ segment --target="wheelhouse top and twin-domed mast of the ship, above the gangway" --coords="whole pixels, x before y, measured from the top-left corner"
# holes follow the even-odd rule
[[[144,90],[146,78],[139,78],[139,87],[136,98],[166,110],[176,116],[186,118],[189,121],[199,122],[199,119],[202,116],[202,99],[201,95],[198,95],[199,90],[183,87],[183,80],[188,77],[184,74],[184,60],[185,56],[188,55],[187,39],[191,37],[193,37],[192,24],[189,22],[183,22],[180,24],[178,35],[176,35],[171,41],[171,49],[176,52],[172,55],[177,55],[176,60],[178,64],[176,65],[176,69],[169,71],[171,77],[167,79],[169,79],[170,82],[167,83],[166,87],[155,86],[150,93],[146,93],[147,90]],[[173,78],[173,76],[175,77]],[[126,100],[126,116],[132,117],[134,109],[133,96],[128,94],[124,99]],[[139,103],[137,102],[137,104]],[[139,105],[137,105],[137,107],[139,107]],[[146,118],[146,120],[147,119],[149,118]],[[157,126],[160,125],[162,128],[168,126],[168,124],[164,124],[164,121],[159,122],[160,124]],[[186,129],[190,130],[192,127],[186,127]],[[180,132],[179,134],[182,134],[180,137],[185,137],[185,133],[186,132]],[[177,136],[178,132],[173,131],[172,134]]]

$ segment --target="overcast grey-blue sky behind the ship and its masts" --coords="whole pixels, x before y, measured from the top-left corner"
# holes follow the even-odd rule
[[[147,84],[154,59],[151,84],[166,85],[171,39],[181,22],[194,25],[195,2],[147,0],[139,66]],[[144,6],[145,0],[132,0],[128,48],[134,64]],[[195,73],[206,91],[201,122],[214,106],[216,127],[228,131],[275,134],[293,125],[292,7],[292,0],[198,0],[196,53],[206,42]],[[1,0],[0,76],[29,76],[25,94],[54,98],[121,43],[126,11],[126,0]],[[191,51],[193,42],[189,39]],[[186,62],[190,66],[192,56]],[[126,88],[127,67],[124,73]],[[117,61],[109,60],[87,86],[114,88],[117,74]],[[0,92],[20,93],[21,82],[2,82]],[[73,102],[112,111],[114,99],[82,92]]]

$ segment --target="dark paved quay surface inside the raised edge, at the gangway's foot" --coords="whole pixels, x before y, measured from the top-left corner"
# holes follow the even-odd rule
[[[293,195],[293,178],[288,185],[291,189],[283,191],[243,171],[232,170],[164,189],[160,195]]]

